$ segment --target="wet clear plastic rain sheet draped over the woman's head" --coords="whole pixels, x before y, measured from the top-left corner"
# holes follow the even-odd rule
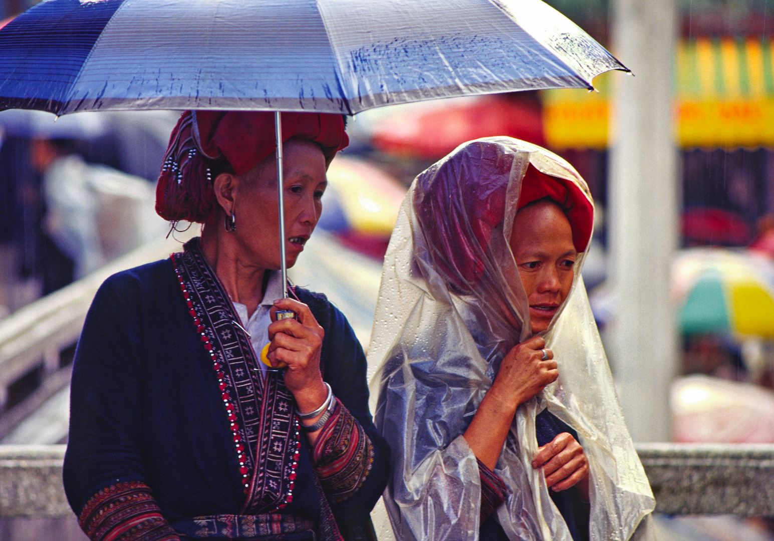
[[[381,365],[372,381],[372,407],[392,447],[385,505],[398,539],[478,539],[478,464],[461,434],[505,353],[530,334],[526,293],[508,243],[529,163],[589,193],[553,153],[488,138],[460,146],[420,174],[402,205],[368,353],[369,364]],[[445,199],[436,198],[444,208],[417,214],[440,182],[451,188]],[[481,221],[502,216],[502,205],[505,220],[481,228]],[[484,238],[481,231],[491,233]],[[461,253],[477,263],[459,265]],[[509,539],[571,539],[543,474],[530,464],[537,450],[535,416],[546,407],[577,430],[587,454],[591,539],[654,538],[652,492],[618,405],[580,279],[582,262],[546,334],[560,377],[519,407],[495,469],[509,489],[496,511]]]

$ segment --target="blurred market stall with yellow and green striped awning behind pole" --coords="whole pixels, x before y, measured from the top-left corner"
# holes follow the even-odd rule
[[[756,221],[774,212],[774,38],[755,13],[741,22],[709,15],[717,15],[714,26],[683,14],[673,56],[683,239],[689,246],[742,246],[755,235]],[[606,204],[615,87],[604,74],[594,83],[598,92],[543,91],[543,129],[550,148]]]

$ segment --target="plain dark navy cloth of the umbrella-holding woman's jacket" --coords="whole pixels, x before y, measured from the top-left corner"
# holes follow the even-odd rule
[[[373,443],[372,469],[361,488],[344,502],[331,502],[340,526],[361,522],[389,474],[388,447],[368,412],[365,355],[344,315],[324,296],[300,288],[296,293],[325,329],[325,381]],[[107,279],[74,361],[64,464],[74,511],[104,488],[142,481],[173,526],[192,517],[238,514],[245,494],[220,395],[172,262]],[[313,520],[320,513],[305,438],[293,502],[283,512]]]

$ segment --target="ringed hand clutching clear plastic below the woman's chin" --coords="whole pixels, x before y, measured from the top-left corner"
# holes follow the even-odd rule
[[[489,392],[515,410],[555,382],[559,377],[557,361],[553,360],[553,351],[544,348],[543,337],[529,338],[512,348],[502,360]]]

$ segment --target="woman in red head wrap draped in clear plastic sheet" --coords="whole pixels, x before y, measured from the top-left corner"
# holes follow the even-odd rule
[[[399,539],[648,535],[652,493],[580,279],[593,213],[567,162],[507,137],[416,177],[369,347]]]

